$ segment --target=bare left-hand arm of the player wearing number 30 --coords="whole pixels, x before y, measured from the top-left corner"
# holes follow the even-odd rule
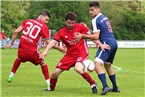
[[[22,27],[22,26],[19,26],[19,27],[14,31],[14,33],[13,33],[13,35],[12,35],[12,39],[11,39],[10,44],[5,44],[5,45],[4,45],[4,48],[9,48],[9,47],[11,47],[11,46],[14,44],[14,42],[15,42],[15,40],[16,40],[16,38],[17,38],[18,33],[21,32],[22,30],[23,30],[23,27]]]

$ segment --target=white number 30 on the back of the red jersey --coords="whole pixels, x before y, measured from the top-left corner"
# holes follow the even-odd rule
[[[23,34],[25,34],[25,35],[28,35],[28,34],[29,34],[29,36],[30,36],[31,38],[35,39],[35,38],[38,36],[38,34],[39,34],[41,28],[40,28],[39,26],[37,26],[37,25],[33,25],[31,22],[27,22],[26,24],[28,24],[29,26],[27,26],[26,32],[23,30]],[[36,32],[36,33],[33,33],[34,30],[37,31],[37,32]],[[33,34],[32,34],[32,33],[33,33]],[[35,35],[34,35],[34,34],[35,34]]]

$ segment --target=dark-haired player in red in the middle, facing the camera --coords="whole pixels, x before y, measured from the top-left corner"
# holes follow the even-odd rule
[[[45,51],[42,52],[40,57],[46,56],[48,50],[54,46],[57,41],[62,41],[66,47],[66,55],[57,64],[55,70],[53,71],[50,79],[51,91],[55,90],[58,76],[71,67],[79,73],[91,86],[92,93],[97,94],[98,90],[96,88],[95,81],[91,76],[83,71],[82,62],[88,58],[88,48],[85,39],[75,40],[74,35],[77,33],[87,34],[88,28],[81,23],[76,23],[76,14],[73,12],[68,12],[65,16],[65,24],[62,29],[54,36],[54,39],[46,47]]]

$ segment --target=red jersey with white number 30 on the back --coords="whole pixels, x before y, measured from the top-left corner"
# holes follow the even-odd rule
[[[21,24],[23,32],[20,37],[19,50],[37,51],[38,42],[43,38],[49,38],[48,27],[40,20],[25,20]]]

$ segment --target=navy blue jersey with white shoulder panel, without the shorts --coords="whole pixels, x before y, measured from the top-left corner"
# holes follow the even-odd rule
[[[99,40],[104,43],[116,41],[111,24],[106,16],[98,14],[92,20],[93,32],[100,32]]]

